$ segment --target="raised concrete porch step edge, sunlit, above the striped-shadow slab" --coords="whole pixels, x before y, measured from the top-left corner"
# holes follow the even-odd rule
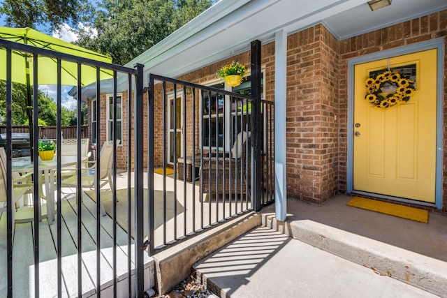
[[[442,260],[346,232],[318,221],[278,222],[273,214],[263,214],[263,226],[355,262],[382,276],[395,278],[439,297],[447,297],[447,262]]]

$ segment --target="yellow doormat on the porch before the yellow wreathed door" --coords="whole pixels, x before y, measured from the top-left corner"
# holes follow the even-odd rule
[[[348,203],[348,206],[357,207],[376,211],[383,214],[393,215],[411,221],[419,221],[420,223],[428,223],[428,211],[413,207],[402,206],[378,200],[370,200],[365,198],[354,197]]]

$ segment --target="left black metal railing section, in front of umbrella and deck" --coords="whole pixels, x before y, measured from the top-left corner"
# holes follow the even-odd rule
[[[144,113],[140,108],[143,101],[142,65],[126,68],[2,38],[0,51],[0,74],[6,83],[6,91],[0,94],[0,98],[6,100],[6,117],[3,117],[6,144],[0,148],[5,153],[3,156],[0,152],[0,207],[4,208],[0,213],[0,224],[4,227],[0,234],[0,249],[3,250],[0,271],[4,272],[0,281],[0,297],[84,297],[99,296],[101,293],[116,297],[118,288],[120,292],[126,291],[129,297],[142,297],[147,290],[144,283],[143,239],[132,237],[131,233],[124,231],[117,220],[116,207],[117,158],[122,156],[128,158],[128,179],[123,185],[129,190],[135,188],[135,195],[129,193],[126,198],[129,202],[135,200],[135,204],[143,200],[142,195],[136,197],[139,189],[143,188],[136,182],[142,181],[142,172],[131,172],[134,164],[142,164],[143,149],[133,142],[137,139],[135,136],[142,133],[142,128],[138,126],[133,129],[135,119],[140,119]],[[32,90],[32,106],[38,106],[38,74],[54,75],[57,126],[51,129],[39,127],[38,109],[27,107],[29,116],[32,114],[29,131],[32,132],[30,139],[34,149],[31,156],[13,158],[14,127],[11,115],[13,103],[17,100],[15,79],[18,73],[25,73],[23,70],[17,71],[18,66],[14,64],[17,61],[14,59],[19,59],[13,58],[17,53],[30,65],[29,73],[32,76],[29,84],[32,88],[28,90]],[[51,61],[52,64],[44,61]],[[94,169],[89,172],[84,172],[85,149],[81,147],[81,142],[75,144],[75,156],[66,156],[61,142],[62,138],[81,140],[87,136],[87,127],[82,126],[80,121],[75,127],[75,135],[70,135],[61,126],[62,73],[68,64],[75,65],[78,70],[71,73],[77,77],[78,98],[82,98],[81,77],[85,72],[96,77],[92,86],[96,90],[94,98],[98,100],[96,103],[89,101],[89,117],[94,117],[96,126],[88,128],[96,133],[96,161],[93,163]],[[107,104],[99,100],[103,98],[101,86],[104,78],[113,82],[112,95]],[[78,100],[78,119],[82,119],[81,105],[81,100]],[[126,113],[121,114],[122,107],[127,108]],[[107,119],[105,115],[108,115]],[[122,140],[117,137],[120,130],[126,131],[121,135]],[[131,131],[135,135],[131,135]],[[43,161],[39,157],[38,140],[43,135],[56,142],[57,150],[52,161]],[[101,145],[110,142],[113,146],[107,150],[111,151],[101,151]],[[116,146],[118,143],[119,148]],[[103,172],[110,173],[106,177],[110,180],[107,191],[94,187],[101,184]],[[131,184],[131,176],[135,178],[135,184]],[[86,188],[88,177],[91,186]],[[75,187],[66,186],[70,179]],[[15,198],[17,193],[20,197]],[[107,203],[108,195],[111,209],[106,214],[108,216],[103,216],[101,207]],[[126,210],[131,216],[130,210]],[[142,226],[142,218],[127,217],[127,220],[129,225]]]

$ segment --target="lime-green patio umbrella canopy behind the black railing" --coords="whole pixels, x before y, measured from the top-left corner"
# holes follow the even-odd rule
[[[42,47],[47,50],[72,54],[78,57],[93,59],[112,63],[112,58],[99,54],[97,52],[78,47],[67,43],[59,38],[48,36],[31,28],[8,28],[0,27],[0,38],[14,41],[16,43],[25,43],[35,47]],[[6,63],[6,50],[0,48],[1,64]],[[32,58],[28,53],[13,52],[13,82],[29,84],[33,82],[33,64]],[[28,65],[27,65],[28,64]],[[57,60],[48,57],[38,58],[38,84],[56,84],[57,83]],[[4,65],[4,64],[3,64]],[[29,69],[29,80],[27,81],[27,72]],[[73,62],[62,61],[61,84],[75,86],[78,84],[78,66]],[[101,71],[101,79],[111,77],[110,72]],[[0,68],[0,80],[6,80],[6,68]],[[91,66],[82,66],[82,86],[86,86],[96,81],[96,70]]]

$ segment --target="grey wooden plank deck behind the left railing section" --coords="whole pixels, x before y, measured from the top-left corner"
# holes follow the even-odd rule
[[[78,215],[73,195],[61,201],[62,296],[78,297]],[[113,222],[101,216],[101,295],[112,297]],[[6,297],[6,216],[0,217],[0,297]],[[82,202],[82,297],[96,296],[96,203],[87,195]],[[34,223],[15,223],[13,294],[34,297]],[[57,221],[39,223],[40,297],[57,297]],[[117,293],[128,293],[127,233],[117,225]],[[133,253],[133,241],[131,252]],[[133,262],[131,263],[133,270]],[[154,261],[145,255],[145,288],[154,286]]]

